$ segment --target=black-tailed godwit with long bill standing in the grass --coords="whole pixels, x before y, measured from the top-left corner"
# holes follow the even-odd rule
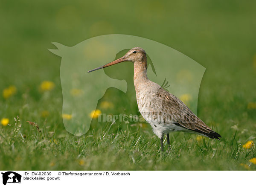
[[[88,73],[123,61],[130,61],[134,64],[134,87],[137,105],[145,121],[153,128],[154,134],[160,138],[162,151],[164,150],[164,135],[166,134],[167,145],[170,147],[169,133],[173,131],[199,134],[220,140],[221,135],[199,119],[180,99],[148,79],[147,55],[143,48],[134,47],[123,57],[89,70]]]

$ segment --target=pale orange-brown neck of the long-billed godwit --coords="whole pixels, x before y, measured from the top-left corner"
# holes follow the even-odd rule
[[[143,85],[145,86],[145,82],[147,81],[147,63],[140,61],[134,62],[134,87],[136,93],[143,89]]]

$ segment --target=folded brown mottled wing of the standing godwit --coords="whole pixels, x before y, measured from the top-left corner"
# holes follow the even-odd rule
[[[175,125],[204,134],[210,138],[218,139],[221,137],[218,133],[209,128],[201,119],[199,119],[180,99],[163,88],[157,90],[158,100],[162,100],[162,112],[164,117],[172,118]],[[167,118],[166,118],[167,119]]]

